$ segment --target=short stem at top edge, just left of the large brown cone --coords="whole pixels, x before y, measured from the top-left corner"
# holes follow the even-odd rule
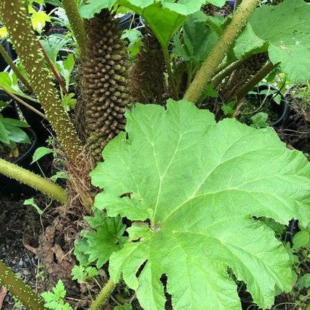
[[[62,4],[66,10],[66,14],[70,21],[75,38],[77,39],[77,44],[81,50],[81,55],[85,55],[86,33],[84,28],[84,20],[79,15],[77,0],[63,0]]]

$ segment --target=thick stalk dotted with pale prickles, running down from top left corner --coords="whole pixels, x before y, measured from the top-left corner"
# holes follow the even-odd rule
[[[8,28],[21,64],[46,113],[46,119],[55,130],[68,158],[74,160],[81,153],[81,142],[52,83],[52,74],[46,66],[43,52],[38,48],[26,3],[26,0],[0,1],[0,19]]]

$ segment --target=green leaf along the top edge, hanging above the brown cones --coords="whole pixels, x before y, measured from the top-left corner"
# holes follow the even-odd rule
[[[200,10],[206,0],[88,0],[81,6],[81,16],[91,18],[103,8],[116,4],[126,6],[142,15],[163,46],[168,44],[188,15]],[[209,0],[215,6],[224,6],[224,0]]]

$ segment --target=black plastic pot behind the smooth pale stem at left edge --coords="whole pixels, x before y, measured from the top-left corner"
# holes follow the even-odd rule
[[[26,168],[32,172],[39,173],[39,167],[37,165],[30,165],[32,162],[32,155],[38,147],[37,135],[31,128],[24,128],[24,130],[28,133],[31,144],[29,145],[27,151],[14,161],[14,164]],[[6,195],[14,195],[18,199],[21,195],[25,195],[25,197],[28,198],[31,195],[34,195],[36,191],[29,186],[20,184],[19,182],[4,175],[0,175],[0,192]]]

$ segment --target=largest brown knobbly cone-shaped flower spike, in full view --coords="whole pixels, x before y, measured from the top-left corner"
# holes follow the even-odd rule
[[[102,10],[86,21],[88,45],[83,61],[82,98],[88,147],[96,161],[125,126],[128,55],[117,20]]]

